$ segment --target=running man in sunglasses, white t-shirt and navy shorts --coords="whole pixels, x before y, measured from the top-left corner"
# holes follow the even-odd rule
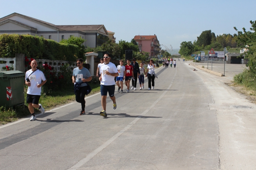
[[[106,113],[106,104],[107,104],[107,94],[109,92],[109,97],[113,101],[113,109],[116,109],[116,97],[115,93],[115,80],[114,78],[118,76],[118,71],[116,65],[110,62],[109,53],[104,54],[104,63],[101,65],[101,77],[99,77],[99,81],[101,81],[101,106],[102,111],[99,112],[99,115],[103,117],[107,117]]]

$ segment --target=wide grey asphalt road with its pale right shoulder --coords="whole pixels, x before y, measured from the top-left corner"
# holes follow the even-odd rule
[[[176,61],[176,69],[156,70],[154,90],[147,90],[147,79],[143,90],[118,93],[116,88],[117,109],[108,97],[108,117],[99,116],[101,96],[95,94],[86,98],[86,115],[79,116],[80,104],[71,103],[36,121],[25,118],[0,126],[0,169],[255,167],[255,106],[226,86],[222,77],[192,71],[193,66]],[[223,105],[223,100],[230,100],[230,105]],[[239,100],[243,103],[235,104]],[[244,117],[235,113],[244,110],[249,124],[241,125]],[[245,136],[238,138],[242,132],[249,142]],[[244,147],[238,152],[233,141]],[[248,154],[251,159],[246,162]]]

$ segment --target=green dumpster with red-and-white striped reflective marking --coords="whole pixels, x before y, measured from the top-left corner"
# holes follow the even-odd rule
[[[0,72],[0,106],[22,105],[24,99],[25,73]]]

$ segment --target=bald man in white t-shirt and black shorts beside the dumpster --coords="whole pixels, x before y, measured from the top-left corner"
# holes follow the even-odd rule
[[[37,69],[37,61],[31,61],[30,66],[31,69],[26,72],[25,84],[28,86],[27,104],[29,104],[29,111],[31,113],[30,121],[33,121],[37,120],[34,108],[38,108],[41,113],[45,112],[42,105],[38,103],[41,96],[41,87],[46,83],[46,78],[44,73]]]

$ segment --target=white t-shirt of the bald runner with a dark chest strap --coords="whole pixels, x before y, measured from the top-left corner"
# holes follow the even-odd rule
[[[45,81],[46,80],[45,75],[40,70],[36,70],[34,73],[32,72],[33,72],[32,69],[28,70],[25,76],[25,80],[29,77],[29,81],[30,81],[30,86],[29,88],[27,88],[27,94],[41,95],[41,87],[40,88],[37,87],[37,82],[41,84],[42,81]]]

